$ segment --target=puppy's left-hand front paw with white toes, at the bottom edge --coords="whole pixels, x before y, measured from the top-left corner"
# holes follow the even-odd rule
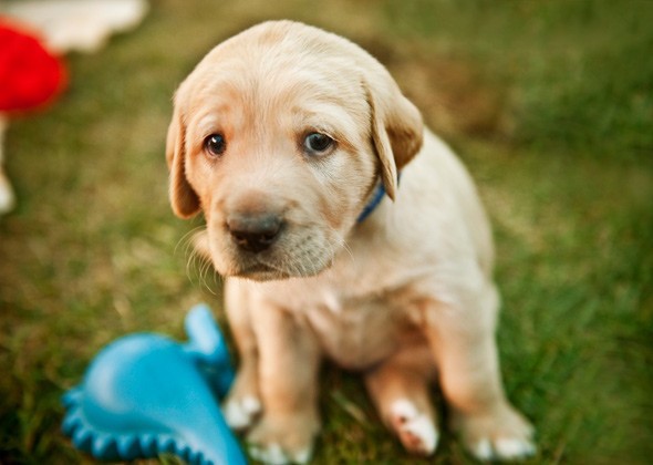
[[[248,450],[253,458],[267,464],[305,464],[319,430],[314,414],[265,415],[247,436]]]

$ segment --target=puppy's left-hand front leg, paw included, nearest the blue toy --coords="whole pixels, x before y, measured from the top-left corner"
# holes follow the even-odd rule
[[[247,437],[250,454],[273,464],[305,463],[320,428],[318,342],[305,324],[282,309],[257,304],[252,317],[263,416]]]

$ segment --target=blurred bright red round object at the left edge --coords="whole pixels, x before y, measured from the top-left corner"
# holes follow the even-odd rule
[[[37,34],[0,18],[0,112],[34,110],[52,101],[66,83],[60,56]]]

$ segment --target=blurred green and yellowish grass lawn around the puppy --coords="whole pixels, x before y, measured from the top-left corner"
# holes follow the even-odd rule
[[[270,18],[367,46],[473,172],[506,389],[538,431],[528,463],[649,463],[653,3],[635,0],[158,0],[135,32],[70,56],[68,92],[6,145],[20,204],[0,219],[0,463],[92,463],[59,432],[61,393],[107,342],[183,338],[190,304],[219,309],[219,279],[187,271],[199,221],[167,205],[170,96],[215,43]],[[414,462],[355,375],[323,375],[315,463]],[[445,433],[435,463],[471,462]]]

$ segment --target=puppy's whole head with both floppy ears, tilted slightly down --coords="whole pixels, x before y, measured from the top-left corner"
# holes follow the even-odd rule
[[[224,276],[312,276],[379,178],[394,198],[422,133],[418,111],[362,49],[300,23],[262,23],[215,48],[177,90],[173,209],[204,211]]]

